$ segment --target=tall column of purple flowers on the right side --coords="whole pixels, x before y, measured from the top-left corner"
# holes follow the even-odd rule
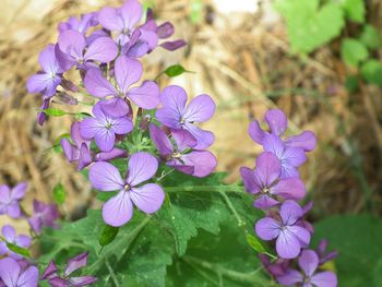
[[[303,207],[298,203],[306,195],[298,167],[307,160],[306,153],[314,150],[315,136],[305,131],[284,137],[288,123],[279,109],[268,110],[265,121],[270,131],[261,129],[256,120],[249,127],[251,139],[264,151],[255,160],[255,169],[240,169],[246,190],[255,196],[253,206],[266,213],[264,218],[256,222],[255,234],[263,240],[274,242],[278,255],[275,262],[264,254],[260,258],[267,272],[283,286],[336,286],[334,273],[318,272],[336,253],[324,254],[326,241],[322,241],[317,251],[309,249],[314,229],[303,217],[312,203]],[[294,270],[295,259],[301,272]]]

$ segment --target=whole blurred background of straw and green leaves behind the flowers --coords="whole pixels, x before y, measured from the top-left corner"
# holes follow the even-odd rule
[[[0,183],[28,181],[29,201],[51,201],[52,189],[61,182],[69,194],[68,211],[81,213],[89,204],[86,180],[51,148],[69,132],[71,119],[50,118],[38,127],[40,97],[28,95],[25,82],[39,69],[38,52],[56,40],[59,22],[121,2],[1,1]],[[372,264],[372,274],[381,274],[382,261],[377,262],[374,254],[382,254],[382,224],[378,219],[382,214],[382,2],[144,3],[155,9],[157,19],[175,24],[174,38],[184,38],[189,44],[176,52],[157,49],[146,57],[146,77],[154,79],[176,63],[195,72],[174,80],[162,77],[160,86],[177,83],[190,96],[207,93],[217,101],[217,112],[205,128],[216,134],[213,151],[218,169],[229,174],[228,181],[239,180],[239,167],[253,166],[261,152],[247,133],[249,122],[262,119],[268,108],[283,109],[290,133],[309,129],[319,141],[302,168],[309,200],[314,200],[311,219],[319,223],[318,232],[332,228],[333,234],[350,230],[348,238],[370,237],[371,241],[347,246],[357,254],[370,253],[370,258],[349,252],[342,260],[365,261]],[[77,111],[83,107],[64,109]],[[346,219],[333,215],[346,215]],[[333,237],[334,246],[341,241],[336,235],[329,237]],[[365,265],[365,272],[371,272],[369,266]]]

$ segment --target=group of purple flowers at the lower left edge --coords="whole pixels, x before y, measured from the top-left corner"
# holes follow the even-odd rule
[[[44,227],[57,227],[59,217],[55,204],[45,204],[37,200],[33,203],[33,214],[28,216],[21,206],[25,196],[27,184],[16,184],[13,189],[0,186],[0,214],[8,215],[14,219],[26,219],[33,236],[39,235]],[[38,270],[20,250],[28,250],[32,247],[32,237],[16,235],[11,225],[1,228],[0,236],[0,287],[36,287],[38,282]]]

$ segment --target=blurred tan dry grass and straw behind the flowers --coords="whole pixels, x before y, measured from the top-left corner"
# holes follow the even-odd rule
[[[86,180],[50,150],[55,139],[69,131],[71,119],[52,118],[44,128],[37,127],[40,99],[27,94],[25,82],[38,70],[38,52],[56,40],[60,21],[118,2],[1,1],[0,182],[28,181],[29,202],[33,198],[50,201],[52,188],[61,181],[69,194],[69,211],[89,203]],[[338,43],[309,58],[290,56],[285,25],[270,14],[268,1],[262,1],[255,13],[229,14],[202,1],[198,23],[190,21],[191,0],[154,2],[158,17],[175,23],[177,36],[186,38],[189,47],[175,53],[158,49],[146,57],[146,76],[153,79],[178,62],[196,72],[174,82],[190,95],[204,92],[216,99],[216,116],[206,128],[216,134],[218,169],[229,172],[228,180],[237,180],[238,168],[253,166],[261,152],[247,134],[250,120],[277,106],[288,115],[290,131],[310,129],[318,135],[319,147],[303,169],[318,216],[361,212],[369,193],[373,207],[381,203],[381,89],[361,86],[357,94],[346,92]],[[382,27],[382,4],[369,1],[369,7],[370,21]],[[165,84],[168,80],[160,79]]]

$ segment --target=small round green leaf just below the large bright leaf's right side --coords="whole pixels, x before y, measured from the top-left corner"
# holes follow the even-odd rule
[[[341,44],[341,56],[347,65],[358,67],[360,62],[368,59],[369,52],[361,41],[345,38]]]

